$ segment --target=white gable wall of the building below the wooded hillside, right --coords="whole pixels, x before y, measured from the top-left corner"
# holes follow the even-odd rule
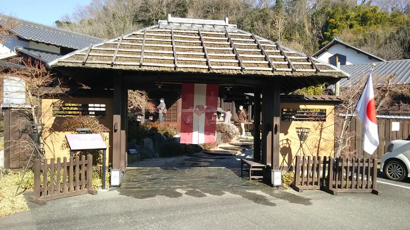
[[[318,56],[318,59],[326,63],[329,63],[329,58],[335,54],[341,54],[341,55],[346,56],[346,65],[373,63],[373,62],[379,61],[374,58],[369,59],[367,55],[363,53],[357,53],[356,50],[351,49],[351,48],[346,48],[344,45],[339,44],[339,43],[332,45],[332,47],[329,48],[329,50],[320,54]]]

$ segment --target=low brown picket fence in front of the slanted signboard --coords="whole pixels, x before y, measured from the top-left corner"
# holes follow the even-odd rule
[[[34,195],[30,200],[43,205],[47,200],[53,200],[80,194],[97,194],[92,188],[92,155],[75,158],[60,157],[57,162],[51,158],[50,164],[42,163],[40,159],[34,162]]]

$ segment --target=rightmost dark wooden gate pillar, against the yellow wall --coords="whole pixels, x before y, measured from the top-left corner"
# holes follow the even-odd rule
[[[273,151],[272,168],[279,169],[279,138],[280,135],[280,83],[276,82],[273,87]]]

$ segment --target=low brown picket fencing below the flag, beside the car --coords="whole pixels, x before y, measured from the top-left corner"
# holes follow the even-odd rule
[[[378,159],[296,156],[295,179],[292,185],[298,192],[321,189],[338,193],[373,193],[377,190]]]

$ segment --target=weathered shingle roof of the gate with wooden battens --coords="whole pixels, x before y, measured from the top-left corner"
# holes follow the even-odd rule
[[[228,20],[172,18],[48,63],[113,70],[346,77],[338,68],[238,30]]]

